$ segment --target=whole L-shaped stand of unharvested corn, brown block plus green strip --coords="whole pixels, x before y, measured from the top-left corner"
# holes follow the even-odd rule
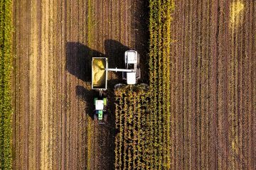
[[[171,169],[170,45],[174,1],[149,1],[149,89],[115,92],[115,169]]]

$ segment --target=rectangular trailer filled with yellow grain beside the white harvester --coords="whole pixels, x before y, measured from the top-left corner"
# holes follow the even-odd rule
[[[107,90],[108,60],[106,57],[92,57],[92,89]]]

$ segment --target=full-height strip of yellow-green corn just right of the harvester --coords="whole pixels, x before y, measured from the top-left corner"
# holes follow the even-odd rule
[[[170,169],[170,45],[172,0],[149,1],[149,77],[151,134],[154,153],[150,160],[151,169]]]

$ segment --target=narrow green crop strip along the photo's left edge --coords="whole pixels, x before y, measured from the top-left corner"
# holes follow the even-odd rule
[[[11,0],[0,1],[0,169],[11,169]]]

